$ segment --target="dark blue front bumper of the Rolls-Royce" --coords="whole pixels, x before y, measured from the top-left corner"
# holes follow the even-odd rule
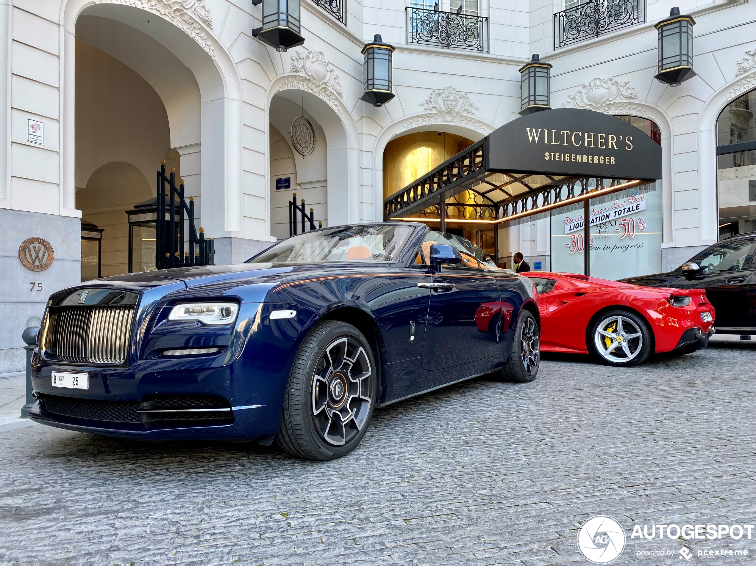
[[[29,418],[64,429],[147,440],[251,439],[277,432],[284,372],[268,374],[266,368],[259,364],[255,368],[244,357],[219,367],[212,367],[209,359],[205,367],[199,362],[186,358],[158,363],[140,360],[129,368],[38,363],[33,366],[32,384],[42,402],[37,401]],[[53,371],[85,372],[89,374],[89,389],[54,387],[51,384]],[[47,406],[50,404],[45,403],[45,398],[50,396],[84,409],[55,409],[53,412]],[[152,399],[177,396],[222,399],[222,405],[218,406],[231,411],[214,414],[218,417],[214,420],[179,420],[178,414],[171,414],[172,421],[161,420],[157,418],[161,414],[149,412],[160,409]],[[132,411],[132,417],[111,420],[113,417],[108,416],[107,411],[88,410],[87,405],[95,408],[106,405],[116,414]],[[138,413],[136,422],[134,413]]]

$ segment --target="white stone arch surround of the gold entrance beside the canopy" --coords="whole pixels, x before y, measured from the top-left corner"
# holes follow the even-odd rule
[[[494,125],[477,119],[476,123],[469,125],[476,125],[479,129],[443,122],[408,126],[408,122],[407,116],[392,122],[383,128],[373,144],[373,220],[383,220],[383,152],[391,140],[421,131],[440,131],[478,141],[496,129]]]

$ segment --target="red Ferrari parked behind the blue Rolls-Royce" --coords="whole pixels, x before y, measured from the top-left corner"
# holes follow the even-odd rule
[[[541,350],[590,353],[607,365],[652,352],[695,352],[714,333],[703,289],[640,287],[574,273],[525,272],[537,291]]]

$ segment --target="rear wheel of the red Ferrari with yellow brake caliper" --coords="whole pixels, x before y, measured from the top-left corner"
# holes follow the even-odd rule
[[[654,351],[648,322],[627,310],[605,312],[593,323],[587,339],[590,353],[616,368],[643,364]]]

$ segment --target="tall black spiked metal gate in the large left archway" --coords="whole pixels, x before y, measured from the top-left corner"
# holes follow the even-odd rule
[[[198,234],[194,226],[194,197],[189,197],[187,204],[184,180],[180,179],[176,186],[175,172],[166,175],[166,161],[161,162],[157,171],[156,207],[156,269],[215,264],[215,242],[212,238],[205,239],[202,228]]]

